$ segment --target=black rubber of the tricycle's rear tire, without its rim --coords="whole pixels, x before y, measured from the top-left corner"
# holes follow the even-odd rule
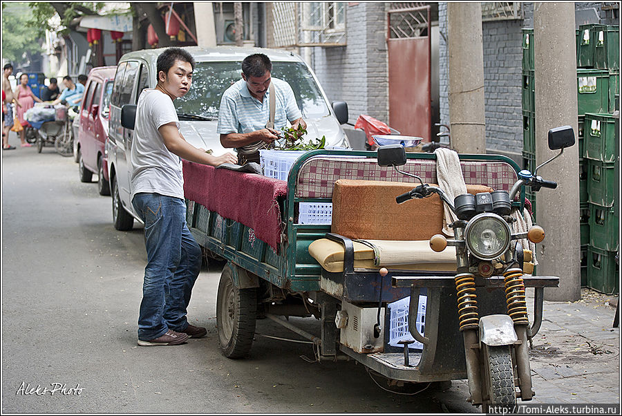
[[[222,299],[227,279],[232,280],[233,290],[236,292],[234,301],[237,303],[238,316],[234,316],[233,334],[226,346],[223,346],[220,342],[220,328],[218,328],[218,343],[220,348],[223,349],[225,357],[237,359],[246,357],[253,344],[257,320],[257,289],[256,287],[238,289],[233,282],[230,267],[230,265],[223,267],[223,273],[220,274],[216,302],[219,303]],[[218,306],[216,307],[216,322],[218,323]]]

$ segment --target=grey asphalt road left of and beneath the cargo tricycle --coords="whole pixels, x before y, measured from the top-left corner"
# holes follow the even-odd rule
[[[110,198],[79,182],[72,158],[50,147],[3,151],[3,412],[477,411],[462,381],[386,393],[353,362],[308,363],[305,344],[258,336],[249,359],[226,359],[216,339],[217,268],[202,271],[189,308],[207,337],[138,347],[145,262],[142,226],[115,231]],[[317,332],[313,320],[299,321]],[[257,332],[296,337],[267,320]],[[28,384],[59,390],[23,394]]]

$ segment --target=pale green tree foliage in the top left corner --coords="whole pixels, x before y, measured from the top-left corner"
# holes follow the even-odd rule
[[[14,65],[41,53],[37,30],[28,26],[26,3],[2,3],[2,57]]]

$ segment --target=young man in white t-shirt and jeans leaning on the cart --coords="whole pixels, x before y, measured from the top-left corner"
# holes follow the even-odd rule
[[[132,205],[144,222],[147,267],[138,316],[138,345],[174,346],[199,338],[205,328],[186,319],[201,250],[186,224],[181,158],[218,166],[235,163],[232,153],[212,156],[179,131],[173,100],[189,90],[194,59],[181,48],[158,57],[158,84],[138,98],[131,150]]]

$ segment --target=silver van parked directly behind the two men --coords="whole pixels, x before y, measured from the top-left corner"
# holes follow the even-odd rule
[[[196,61],[190,91],[173,103],[180,120],[180,131],[192,145],[211,149],[221,155],[218,110],[220,98],[229,86],[241,78],[242,60],[253,53],[264,53],[272,60],[272,75],[287,81],[307,123],[308,138],[326,136],[327,148],[349,148],[350,143],[341,124],[348,122],[345,102],[328,104],[312,70],[298,55],[285,50],[264,48],[185,48]],[[128,230],[133,218],[138,219],[131,204],[129,159],[133,130],[121,125],[121,108],[136,104],[144,88],[156,86],[156,59],[164,49],[138,50],[126,53],[120,59],[115,75],[110,106],[110,135],[106,142],[110,187],[113,196],[115,228]],[[140,221],[140,220],[139,220]]]

